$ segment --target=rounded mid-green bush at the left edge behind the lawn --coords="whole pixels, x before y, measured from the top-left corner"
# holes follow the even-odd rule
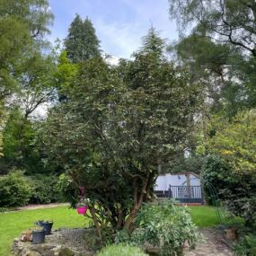
[[[22,207],[31,198],[31,184],[22,172],[10,172],[0,179],[0,207]]]

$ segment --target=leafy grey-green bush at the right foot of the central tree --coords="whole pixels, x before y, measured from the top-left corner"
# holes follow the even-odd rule
[[[188,242],[194,249],[199,234],[187,207],[175,206],[172,200],[146,204],[136,218],[138,226],[131,234],[131,243],[158,248],[158,255],[182,255]]]

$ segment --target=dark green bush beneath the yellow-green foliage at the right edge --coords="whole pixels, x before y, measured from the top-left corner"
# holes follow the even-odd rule
[[[202,181],[207,199],[207,184],[215,188],[219,199],[234,215],[241,216],[247,226],[256,227],[256,175],[254,172],[236,172],[220,156],[210,155],[203,165]]]

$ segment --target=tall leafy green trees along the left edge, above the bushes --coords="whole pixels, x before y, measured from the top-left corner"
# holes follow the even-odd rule
[[[55,64],[46,54],[48,44],[43,38],[49,33],[53,14],[48,0],[2,0],[0,15],[0,147],[1,154],[2,147],[5,153],[1,172],[6,173],[15,166],[27,169],[33,165],[28,169],[37,169],[39,158],[37,152],[31,150],[34,131],[31,120],[27,119],[41,104],[48,102],[53,93]],[[3,113],[9,115],[7,128],[3,124]]]

